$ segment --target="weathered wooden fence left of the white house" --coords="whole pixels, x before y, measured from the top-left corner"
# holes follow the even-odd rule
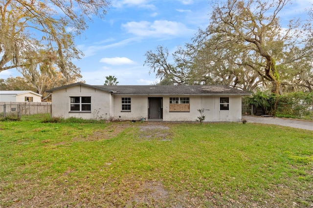
[[[22,115],[33,115],[41,113],[51,114],[51,103],[17,103],[17,102],[0,102],[0,117],[18,117]]]

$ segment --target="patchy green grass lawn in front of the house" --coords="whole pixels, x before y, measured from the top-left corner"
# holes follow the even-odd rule
[[[313,131],[0,122],[0,207],[311,207]]]

